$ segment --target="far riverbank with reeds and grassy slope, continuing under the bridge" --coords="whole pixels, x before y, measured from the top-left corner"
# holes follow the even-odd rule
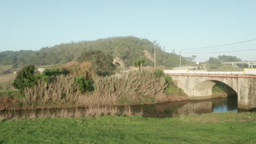
[[[59,75],[51,79],[50,83],[38,80],[37,85],[25,88],[24,94],[0,90],[0,110],[144,105],[191,99],[160,70],[96,76],[94,91],[90,92],[81,92],[80,86],[90,85],[78,85],[75,77]],[[209,98],[228,97],[229,91],[225,85],[217,84]]]

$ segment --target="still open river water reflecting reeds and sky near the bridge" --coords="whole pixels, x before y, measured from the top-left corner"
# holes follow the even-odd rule
[[[133,106],[133,110],[143,109],[144,117],[177,117],[193,113],[245,112],[237,109],[237,97],[214,98],[206,100],[173,101],[155,105]]]

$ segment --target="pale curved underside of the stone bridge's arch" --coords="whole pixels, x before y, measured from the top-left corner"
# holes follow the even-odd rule
[[[237,88],[234,87],[233,82],[231,81],[224,81],[223,79],[207,79],[200,81],[200,83],[197,83],[193,88],[193,96],[194,97],[207,97],[212,95],[212,88],[215,86],[218,82],[225,83],[225,85],[229,86],[231,89],[233,89],[236,93]]]

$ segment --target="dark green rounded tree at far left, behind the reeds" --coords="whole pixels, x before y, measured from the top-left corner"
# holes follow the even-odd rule
[[[36,85],[36,79],[33,75],[34,65],[28,65],[19,71],[18,75],[15,77],[13,86],[19,89],[21,93],[24,93],[26,87],[33,87]]]

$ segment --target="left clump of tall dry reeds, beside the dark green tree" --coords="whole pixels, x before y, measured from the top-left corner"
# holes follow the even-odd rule
[[[25,109],[58,108],[79,106],[80,99],[86,95],[78,92],[78,85],[72,76],[56,76],[49,84],[39,81],[33,88],[26,88],[25,98],[16,99]]]

